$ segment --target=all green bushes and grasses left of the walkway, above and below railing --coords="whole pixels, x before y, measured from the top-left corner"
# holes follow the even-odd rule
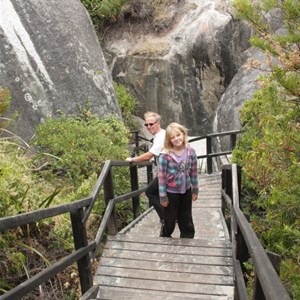
[[[0,90],[0,96],[5,111],[9,107],[9,91]],[[133,109],[133,98],[124,90],[118,99],[123,103],[122,111]],[[0,127],[6,136],[9,133],[9,137],[0,137],[0,217],[82,199],[91,194],[105,160],[123,160],[128,156],[129,131],[123,121],[112,115],[99,119],[90,112],[88,101],[79,107],[76,117],[62,115],[37,126],[31,145],[10,134],[5,125],[2,122]],[[128,168],[113,170],[116,195],[129,191],[128,178]],[[100,193],[87,224],[91,238],[104,209]],[[130,201],[118,204],[116,213],[120,228],[127,225],[132,220]],[[73,249],[69,215],[1,233],[0,295]],[[43,295],[43,299],[77,299],[78,280],[74,265],[43,284],[29,298],[40,299]]]

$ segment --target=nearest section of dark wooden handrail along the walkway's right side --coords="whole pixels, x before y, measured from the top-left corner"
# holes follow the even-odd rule
[[[222,167],[223,213],[230,210],[230,237],[232,241],[236,295],[248,299],[242,272],[243,263],[251,257],[255,267],[253,299],[290,300],[279,275],[278,256],[266,253],[247,218],[240,210],[241,168],[236,164]],[[277,258],[277,259],[274,259]]]

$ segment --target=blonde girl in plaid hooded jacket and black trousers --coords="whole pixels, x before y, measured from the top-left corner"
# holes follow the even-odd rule
[[[164,207],[160,236],[171,237],[176,220],[181,238],[193,238],[192,201],[198,198],[197,155],[188,145],[187,129],[171,123],[159,156],[159,196]]]

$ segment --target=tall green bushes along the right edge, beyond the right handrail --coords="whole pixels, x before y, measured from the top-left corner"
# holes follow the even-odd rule
[[[235,0],[235,15],[256,30],[267,73],[241,110],[243,135],[234,160],[243,167],[243,208],[265,247],[281,255],[281,278],[300,299],[300,2]],[[284,30],[266,15],[280,12]],[[278,15],[278,14],[277,14]],[[250,67],[263,64],[250,60]]]

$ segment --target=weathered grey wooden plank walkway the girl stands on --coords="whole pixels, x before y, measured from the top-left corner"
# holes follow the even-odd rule
[[[94,276],[94,299],[234,299],[231,243],[221,212],[220,174],[200,176],[193,203],[194,239],[159,237],[148,210],[116,236],[109,236]]]

